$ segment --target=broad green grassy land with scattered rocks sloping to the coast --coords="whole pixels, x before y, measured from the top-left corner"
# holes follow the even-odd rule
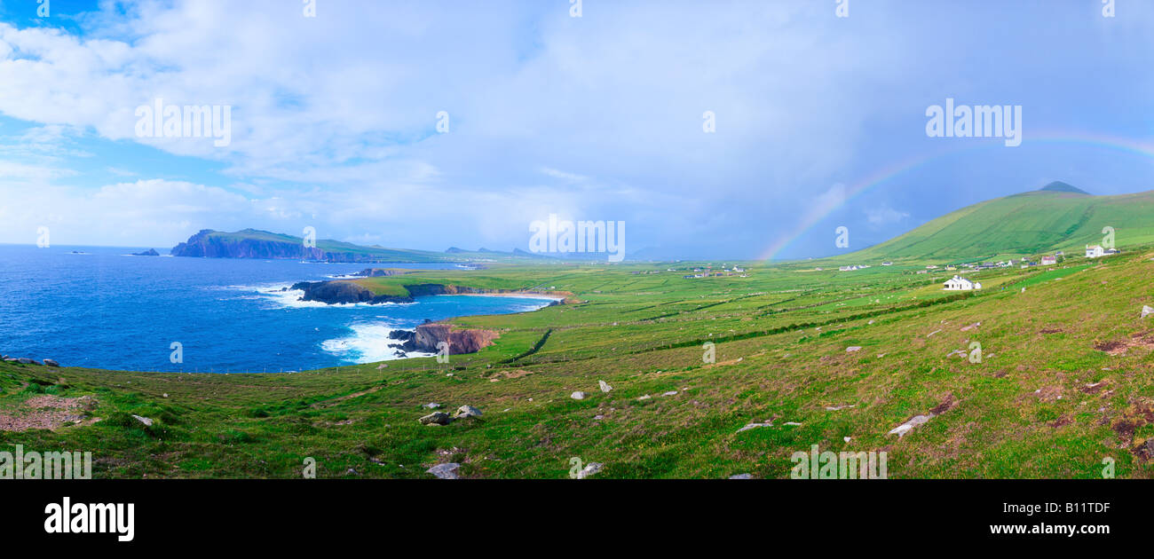
[[[885,451],[896,478],[1100,477],[1107,458],[1118,477],[1154,477],[1154,318],[1139,318],[1154,305],[1154,250],[1123,243],[1123,231],[1122,255],[980,272],[984,288],[962,293],[941,288],[956,272],[915,274],[934,258],[913,257],[854,272],[744,263],[748,278],[682,278],[713,262],[362,279],[572,295],[452,320],[500,338],[444,364],[194,375],[0,363],[0,418],[44,426],[2,438],[91,451],[96,477],[300,477],[312,456],[317,477],[430,478],[456,462],[464,477],[563,478],[577,458],[604,463],[599,478],[769,478],[788,477],[790,454],[815,444]],[[966,358],[972,342],[981,362]],[[427,402],[484,416],[426,426]],[[886,435],[931,410],[905,437]]]

